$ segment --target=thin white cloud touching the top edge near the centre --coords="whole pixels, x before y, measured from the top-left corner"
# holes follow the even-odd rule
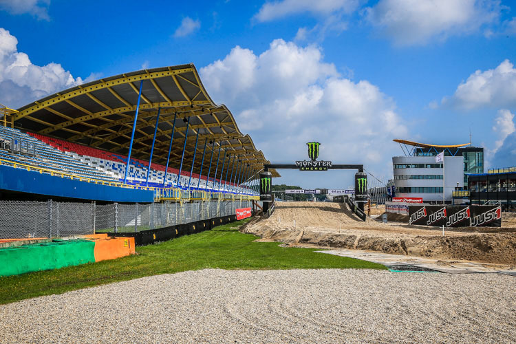
[[[311,13],[315,15],[327,16],[333,12],[350,13],[354,11],[359,0],[283,0],[267,2],[261,6],[255,14],[257,21],[273,21],[288,17],[292,14]]]

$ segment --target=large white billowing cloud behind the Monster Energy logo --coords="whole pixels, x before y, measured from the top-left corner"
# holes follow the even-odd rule
[[[321,159],[381,170],[396,149],[385,142],[407,134],[394,100],[367,80],[343,78],[313,45],[277,39],[261,54],[237,46],[200,74],[274,162],[307,158],[305,143],[317,140]]]

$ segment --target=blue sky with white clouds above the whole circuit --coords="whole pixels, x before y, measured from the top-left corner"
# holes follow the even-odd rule
[[[0,0],[0,103],[142,68],[194,63],[273,162],[392,175],[394,138],[469,142],[516,165],[516,1]],[[281,171],[305,188],[352,173]],[[322,177],[322,178],[321,178]]]

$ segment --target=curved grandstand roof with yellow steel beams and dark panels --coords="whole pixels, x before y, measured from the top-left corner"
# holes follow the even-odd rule
[[[207,158],[203,174],[208,173],[208,154],[213,141],[215,150],[222,147],[232,155],[232,159],[236,154],[256,170],[270,163],[264,153],[256,149],[250,136],[241,133],[229,109],[213,103],[193,64],[144,69],[66,89],[19,108],[19,112],[12,116],[14,127],[127,155],[141,81],[142,96],[131,158],[149,160],[160,109],[152,159],[157,164],[166,164],[175,116],[171,167],[179,167],[188,120],[183,163],[187,171],[191,166],[197,132],[199,143],[194,173],[199,173],[200,154],[206,138]],[[216,154],[217,151],[212,171],[215,171]],[[223,164],[222,158],[219,164]],[[221,169],[219,166],[218,171]],[[273,171],[273,175],[279,177],[277,171]]]

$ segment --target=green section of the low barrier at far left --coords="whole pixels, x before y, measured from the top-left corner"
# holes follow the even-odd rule
[[[95,242],[84,239],[55,239],[42,244],[0,248],[0,276],[94,262],[94,249]]]

